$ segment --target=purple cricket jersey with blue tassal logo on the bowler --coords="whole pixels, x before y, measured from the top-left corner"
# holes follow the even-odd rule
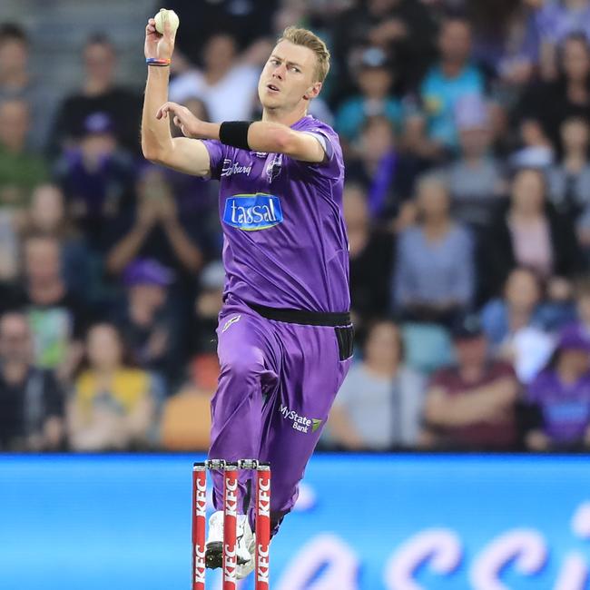
[[[273,308],[348,311],[349,241],[337,133],[304,116],[291,129],[318,137],[322,163],[203,141],[219,179],[224,295]]]

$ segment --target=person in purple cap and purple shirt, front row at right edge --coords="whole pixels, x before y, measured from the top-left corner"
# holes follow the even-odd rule
[[[579,326],[560,334],[545,370],[526,400],[540,409],[541,425],[526,436],[531,450],[590,448],[590,338]]]

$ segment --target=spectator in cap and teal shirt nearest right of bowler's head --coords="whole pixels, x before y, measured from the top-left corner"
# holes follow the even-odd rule
[[[355,78],[359,93],[350,96],[336,113],[335,128],[340,137],[354,142],[367,119],[377,115],[399,131],[402,106],[391,92],[393,72],[385,52],[378,47],[365,50]]]

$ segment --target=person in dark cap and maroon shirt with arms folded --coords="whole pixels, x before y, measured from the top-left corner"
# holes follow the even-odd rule
[[[432,378],[423,440],[438,448],[513,449],[519,395],[514,369],[488,358],[487,338],[477,315],[458,320],[452,336],[457,364]]]

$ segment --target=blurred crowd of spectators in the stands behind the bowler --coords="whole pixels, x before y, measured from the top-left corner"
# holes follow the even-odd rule
[[[590,0],[168,5],[205,120],[260,116],[284,26],[329,44],[357,341],[321,447],[590,448]],[[0,449],[205,449],[217,186],[143,159],[107,36],[58,101],[34,48],[0,24]]]

